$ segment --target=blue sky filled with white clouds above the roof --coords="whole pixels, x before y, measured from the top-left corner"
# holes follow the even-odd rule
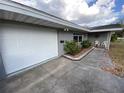
[[[116,23],[124,18],[124,0],[12,0],[81,26]]]

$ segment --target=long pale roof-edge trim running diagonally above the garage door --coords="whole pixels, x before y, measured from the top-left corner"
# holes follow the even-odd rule
[[[34,18],[47,20],[47,21],[65,26],[67,28],[70,27],[73,29],[81,30],[83,32],[84,31],[90,32],[89,29],[83,28],[82,26],[79,26],[79,25],[69,22],[67,20],[58,18],[56,16],[45,13],[43,11],[31,8],[29,6],[25,6],[20,3],[10,1],[10,0],[0,0],[0,10],[15,12],[15,13],[23,14],[26,16],[31,16]]]

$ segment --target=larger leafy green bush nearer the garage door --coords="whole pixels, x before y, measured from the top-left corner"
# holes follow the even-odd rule
[[[75,41],[66,41],[64,44],[64,50],[66,53],[75,55],[80,51],[78,43]]]

